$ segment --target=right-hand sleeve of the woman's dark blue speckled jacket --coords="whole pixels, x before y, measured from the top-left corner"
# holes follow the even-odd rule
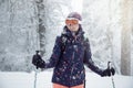
[[[102,73],[103,70],[100,69],[95,64],[94,62],[92,61],[91,56],[91,48],[90,48],[90,43],[89,43],[89,40],[85,41],[85,52],[84,52],[84,59],[83,59],[83,63],[91,69],[93,70],[94,73],[96,73],[98,75],[101,75],[102,76]]]

